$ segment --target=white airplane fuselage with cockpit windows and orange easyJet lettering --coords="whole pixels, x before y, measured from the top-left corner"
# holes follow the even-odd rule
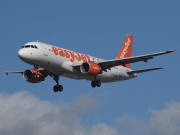
[[[28,64],[38,65],[53,74],[73,79],[87,79],[91,81],[97,79],[101,82],[115,82],[136,77],[136,75],[128,75],[127,71],[132,70],[124,66],[113,67],[96,76],[84,74],[80,70],[74,69],[73,65],[103,60],[41,42],[26,43],[19,50],[18,55],[21,60]]]

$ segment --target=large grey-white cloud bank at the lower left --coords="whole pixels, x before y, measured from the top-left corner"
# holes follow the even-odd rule
[[[99,102],[90,97],[65,104],[42,101],[28,92],[0,94],[0,134],[117,135],[117,131],[105,123],[91,127],[81,124],[84,115],[99,107]]]

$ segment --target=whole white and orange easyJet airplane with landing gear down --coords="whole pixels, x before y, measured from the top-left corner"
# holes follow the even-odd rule
[[[137,77],[138,73],[159,70],[161,67],[131,70],[130,64],[135,62],[147,62],[155,56],[176,53],[176,50],[168,50],[158,53],[132,56],[134,37],[127,35],[125,41],[115,59],[103,60],[90,55],[71,51],[42,42],[28,42],[18,51],[19,58],[33,66],[25,71],[5,71],[9,73],[21,73],[24,80],[30,83],[44,81],[47,76],[52,77],[56,85],[54,92],[62,92],[63,86],[59,84],[59,77],[72,79],[86,79],[91,81],[93,88],[100,87],[101,83],[129,80]]]

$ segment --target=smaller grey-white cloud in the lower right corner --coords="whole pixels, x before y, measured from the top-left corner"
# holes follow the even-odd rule
[[[180,133],[180,102],[169,102],[162,110],[149,109],[148,120],[124,115],[117,119],[119,127],[138,135],[178,135]]]

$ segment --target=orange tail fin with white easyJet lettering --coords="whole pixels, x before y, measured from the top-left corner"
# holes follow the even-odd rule
[[[127,35],[116,59],[131,57],[132,56],[132,45],[133,45],[133,36]],[[130,64],[125,64],[123,66],[130,68]]]

